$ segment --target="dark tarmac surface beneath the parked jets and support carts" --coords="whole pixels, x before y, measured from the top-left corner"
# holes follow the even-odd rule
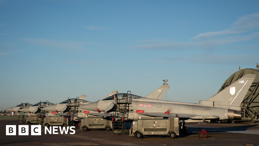
[[[6,135],[6,125],[16,125],[16,135]],[[75,128],[75,134],[45,134],[45,126],[41,126],[41,135],[18,135],[17,120],[0,120],[0,145],[258,145],[259,125],[248,124],[212,124],[192,123],[185,124],[188,133],[177,136],[144,136],[141,139],[129,135],[113,135],[105,129],[83,131]],[[199,130],[207,130],[207,139],[199,138]],[[31,130],[31,126],[29,125]],[[59,130],[58,130],[59,131]],[[73,132],[73,131],[69,131]],[[68,133],[69,133],[68,132]]]

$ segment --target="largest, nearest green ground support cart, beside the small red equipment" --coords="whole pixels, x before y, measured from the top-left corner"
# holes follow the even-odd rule
[[[179,128],[179,117],[139,119],[133,121],[130,136],[142,138],[144,135],[169,135],[170,138],[175,138],[180,135]]]

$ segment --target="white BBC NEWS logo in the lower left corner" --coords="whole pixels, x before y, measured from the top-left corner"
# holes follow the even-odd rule
[[[46,127],[45,126],[45,134],[47,132],[49,134],[68,134],[68,131],[73,131],[69,132],[69,134],[75,134],[75,130],[72,129],[75,128],[75,126],[71,127],[62,127],[61,126],[53,126],[53,127]],[[51,130],[52,129],[52,130]],[[29,125],[18,125],[18,135],[29,135]],[[5,135],[16,135],[16,125],[6,125],[6,134]],[[41,125],[31,125],[31,135],[41,135]]]

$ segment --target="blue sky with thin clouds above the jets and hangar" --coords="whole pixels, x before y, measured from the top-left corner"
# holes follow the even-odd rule
[[[0,110],[113,90],[199,103],[259,57],[259,1],[0,0]],[[165,96],[163,97],[165,99]]]

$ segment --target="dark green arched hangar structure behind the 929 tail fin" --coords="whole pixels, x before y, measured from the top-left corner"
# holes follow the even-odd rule
[[[240,67],[239,67],[240,68]],[[254,74],[256,78],[251,84],[246,96],[243,99],[240,107],[242,108],[241,120],[232,121],[232,123],[250,123],[259,124],[259,70],[258,69],[242,69],[232,74],[222,85],[219,91],[223,90],[228,85],[237,81],[246,74]]]

